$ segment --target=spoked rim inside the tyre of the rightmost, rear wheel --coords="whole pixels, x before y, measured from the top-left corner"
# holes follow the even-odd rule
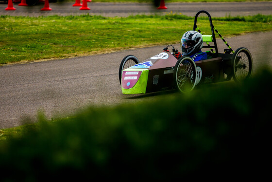
[[[236,55],[234,61],[234,73],[238,81],[245,80],[251,73],[251,57],[245,52],[241,51]]]

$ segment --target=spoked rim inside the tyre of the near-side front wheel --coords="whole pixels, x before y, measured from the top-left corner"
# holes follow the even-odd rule
[[[191,62],[186,62],[184,65],[179,65],[176,74],[177,86],[182,92],[191,91],[195,86],[195,67]]]

